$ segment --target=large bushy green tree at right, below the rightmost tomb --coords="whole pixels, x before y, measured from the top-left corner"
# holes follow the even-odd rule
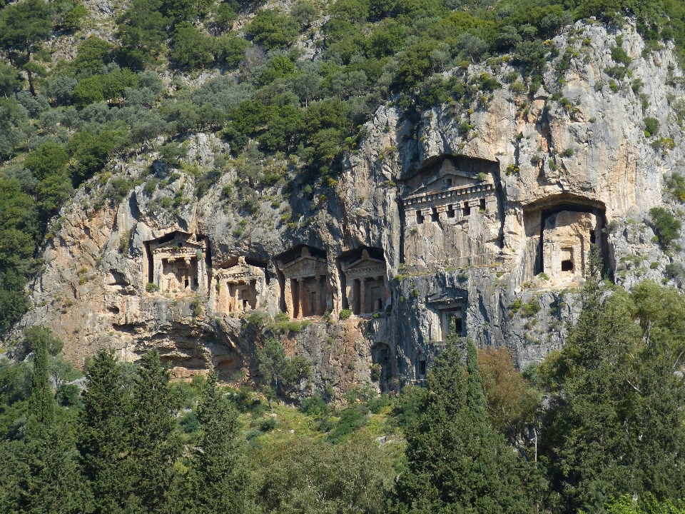
[[[597,276],[564,349],[542,367],[552,397],[540,453],[563,512],[604,512],[623,494],[678,500],[685,488],[685,388],[673,373],[685,301],[649,282],[607,296]]]

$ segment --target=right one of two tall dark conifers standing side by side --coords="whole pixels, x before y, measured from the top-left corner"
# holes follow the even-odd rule
[[[143,356],[133,385],[133,493],[148,513],[166,512],[181,440],[173,419],[171,375],[156,350]]]

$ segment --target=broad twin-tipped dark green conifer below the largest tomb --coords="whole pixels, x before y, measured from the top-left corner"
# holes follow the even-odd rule
[[[420,418],[407,429],[407,468],[392,498],[394,513],[526,513],[524,466],[489,425],[477,353],[462,364],[458,338],[427,375]]]

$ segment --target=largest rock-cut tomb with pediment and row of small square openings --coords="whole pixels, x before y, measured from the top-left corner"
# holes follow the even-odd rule
[[[407,266],[486,266],[497,258],[501,223],[493,173],[498,166],[442,156],[402,183]]]

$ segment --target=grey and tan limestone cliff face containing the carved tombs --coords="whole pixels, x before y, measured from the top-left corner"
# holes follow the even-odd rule
[[[445,74],[471,88],[470,104],[419,119],[387,104],[337,183],[257,186],[250,213],[231,192],[235,170],[198,199],[191,166],[168,168],[154,151],[113,163],[112,179],[138,185],[123,201],[103,179],[77,191],[19,328],[50,326],[79,365],[102,347],[129,361],[158,348],[178,377],[212,364],[234,381],[255,373],[264,337],[285,331],[288,353],[313,362],[303,393],[334,395],[420,380],[452,323],[509,346],[519,366],[539,361],[577,315],[591,243],[619,282],[664,277],[670,258],[644,219],[664,201],[664,174],[685,163],[670,49],[643,57],[630,24],[579,23],[551,44],[559,56],[534,94],[507,81],[506,59]],[[607,75],[617,46],[632,59],[621,80]],[[482,74],[502,87],[479,91]],[[200,168],[228,151],[205,134],[188,147]],[[298,323],[275,328],[279,312]]]

